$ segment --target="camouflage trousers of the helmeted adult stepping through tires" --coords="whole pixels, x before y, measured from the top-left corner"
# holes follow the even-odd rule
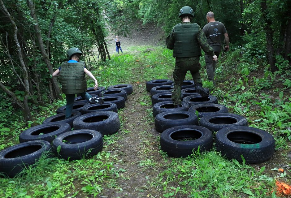
[[[199,58],[199,56],[190,58],[176,58],[175,69],[173,72],[174,88],[172,91],[172,101],[174,105],[181,104],[181,86],[185,80],[187,71],[191,72],[195,85],[197,83],[202,85],[201,75],[199,72],[201,69]]]

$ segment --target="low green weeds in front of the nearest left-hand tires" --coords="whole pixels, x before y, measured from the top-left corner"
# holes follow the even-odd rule
[[[23,195],[26,197],[67,197],[78,194],[75,185],[80,185],[83,192],[96,196],[102,190],[100,183],[119,177],[118,173],[123,171],[107,166],[109,162],[102,162],[110,159],[110,153],[105,152],[86,161],[68,162],[44,157],[34,167],[28,167],[21,173],[25,174],[25,177],[0,179],[2,186],[0,195],[3,198],[18,198]]]

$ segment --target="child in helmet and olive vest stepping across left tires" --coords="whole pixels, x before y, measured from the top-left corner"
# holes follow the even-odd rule
[[[75,94],[77,94],[77,96],[83,97],[91,103],[103,104],[104,101],[102,98],[93,97],[86,92],[87,81],[85,74],[94,80],[94,90],[97,90],[98,82],[93,74],[86,69],[85,62],[80,61],[82,52],[79,50],[79,48],[70,48],[67,51],[67,54],[69,56],[69,60],[63,62],[62,66],[54,71],[52,77],[61,76],[63,93],[65,93],[67,101],[65,114],[66,118],[69,118],[72,114]]]

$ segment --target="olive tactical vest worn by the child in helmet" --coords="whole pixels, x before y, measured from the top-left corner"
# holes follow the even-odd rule
[[[60,76],[63,93],[83,93],[87,90],[84,72],[85,62],[63,62]]]

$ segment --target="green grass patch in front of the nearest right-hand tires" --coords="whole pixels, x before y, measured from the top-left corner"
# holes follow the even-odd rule
[[[237,160],[228,161],[215,151],[171,158],[171,161],[152,183],[163,186],[164,197],[176,193],[190,197],[238,197],[237,192],[266,197],[269,193],[266,186],[275,184],[274,179],[262,174],[265,167],[257,171]],[[179,188],[173,186],[175,183],[179,183]]]

